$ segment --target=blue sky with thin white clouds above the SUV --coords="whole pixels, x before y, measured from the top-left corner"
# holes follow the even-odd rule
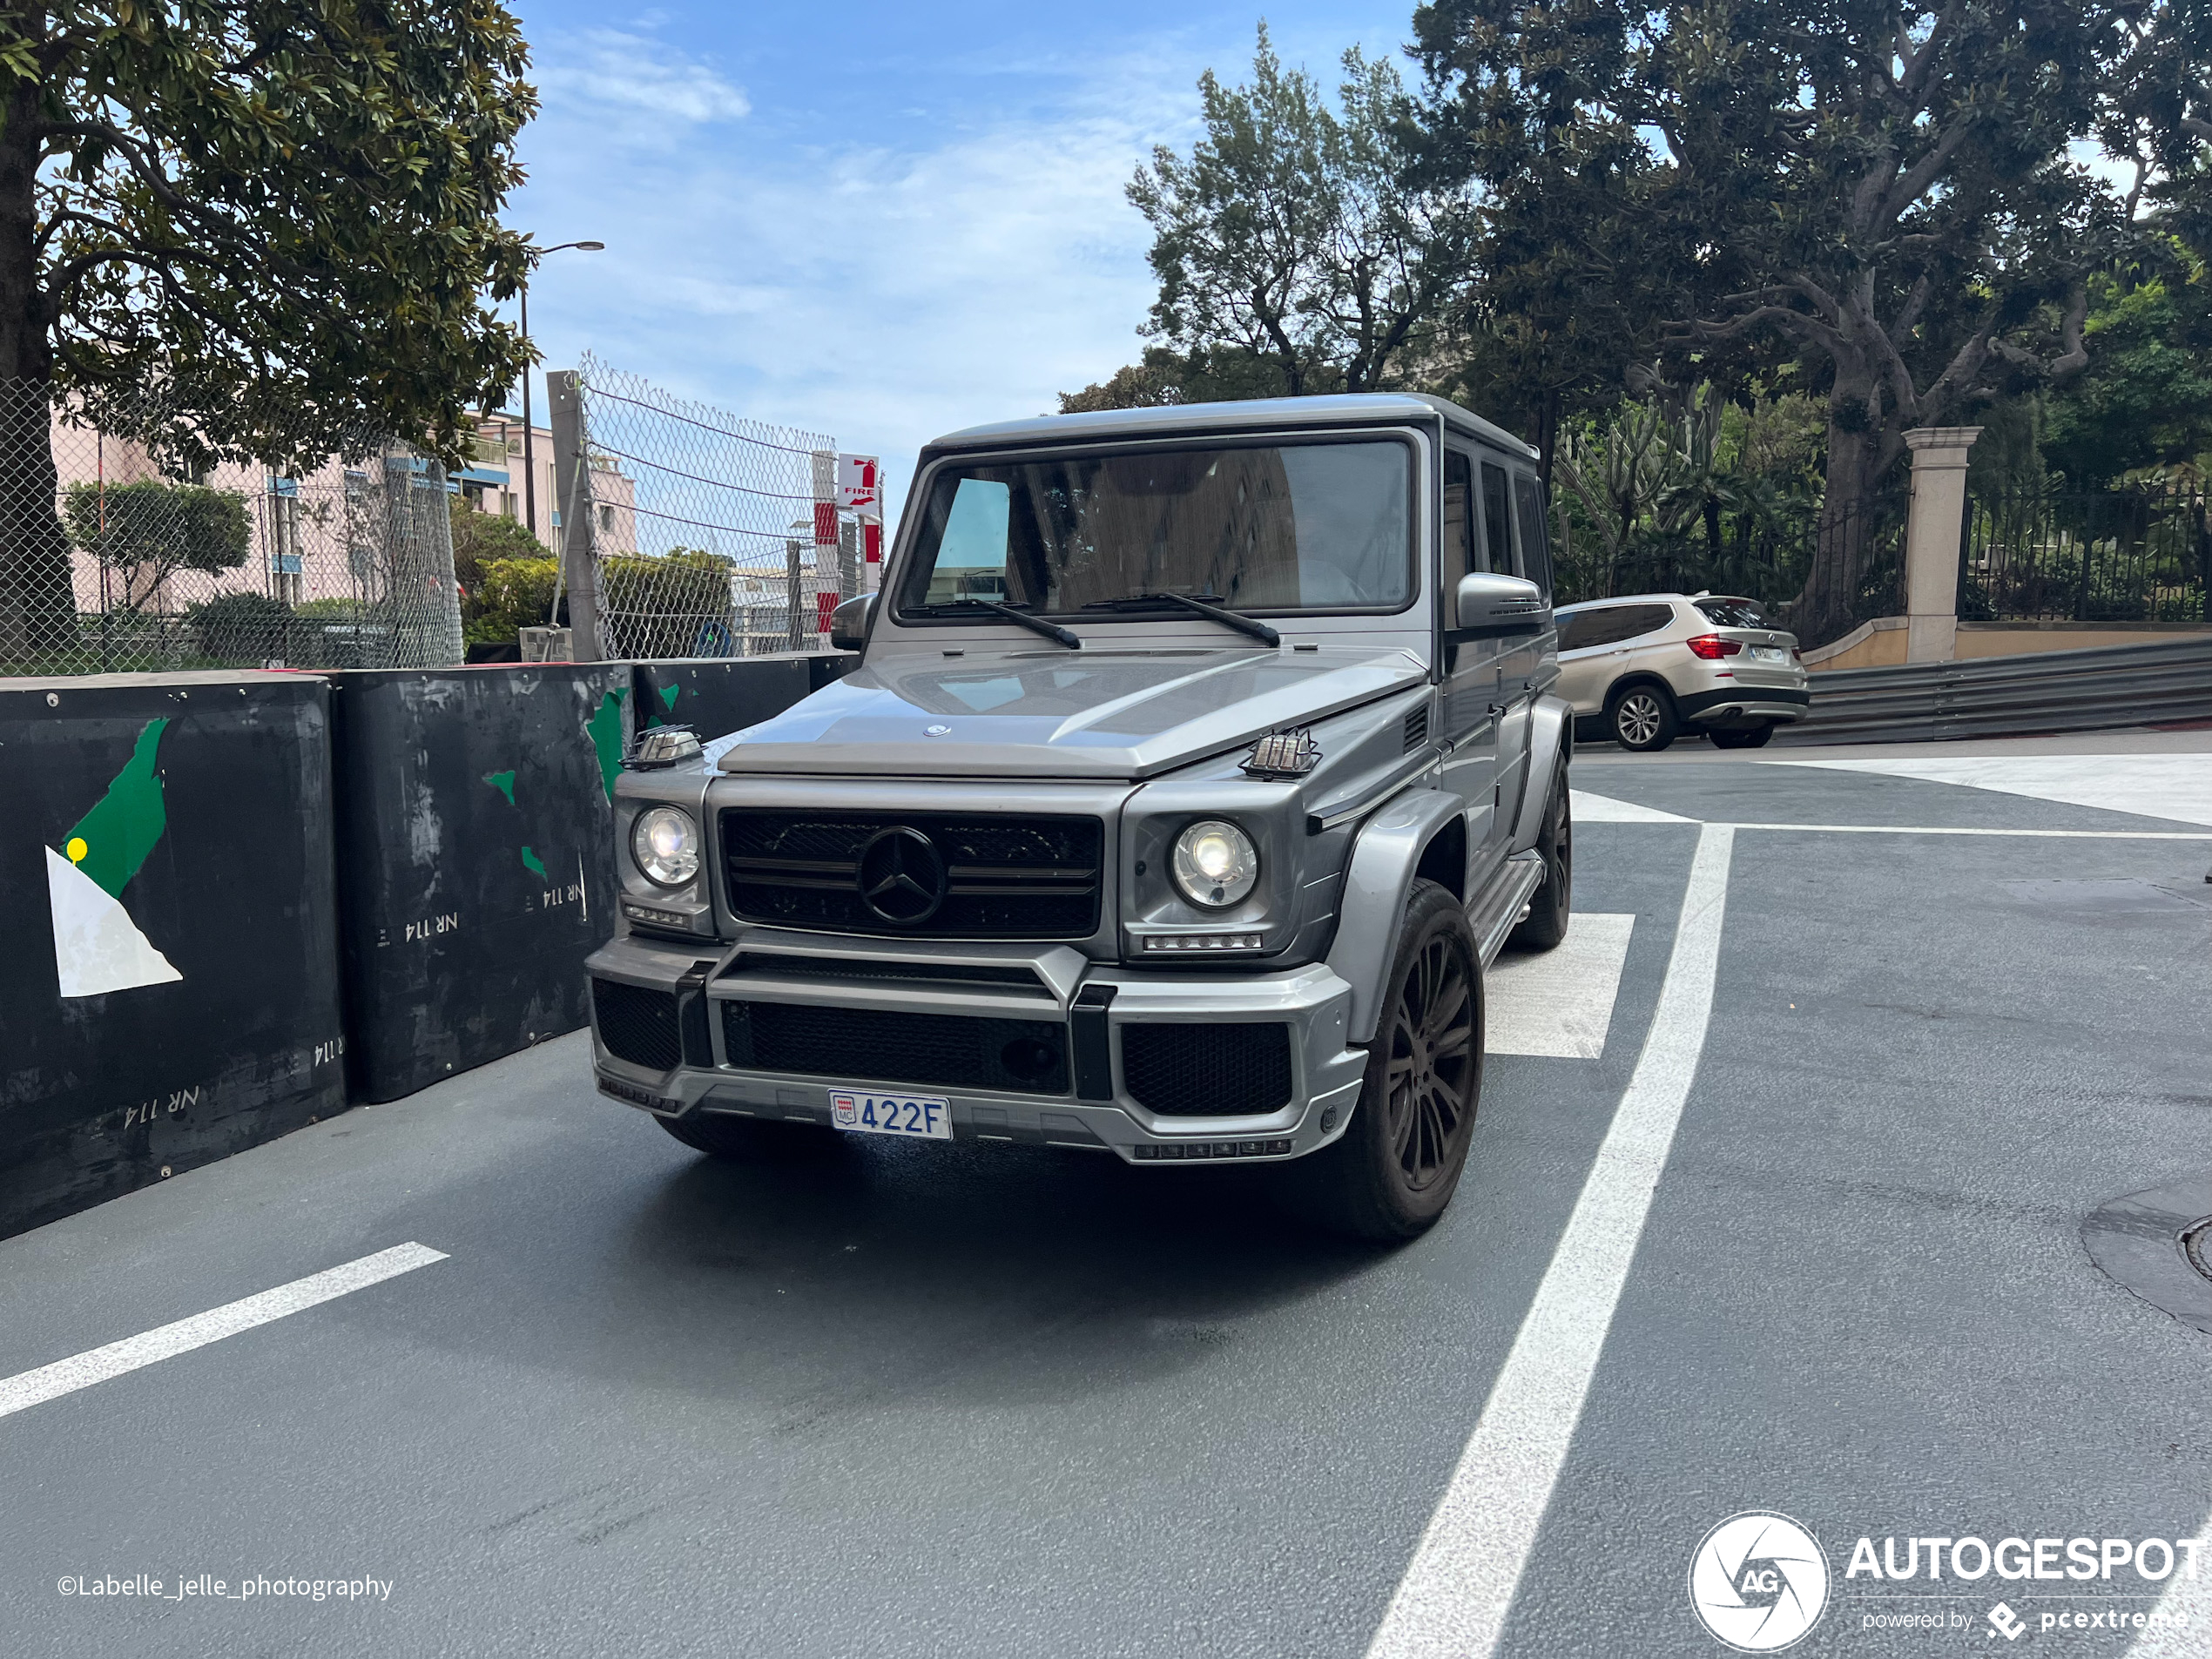
[[[1261,15],[1334,84],[1411,0],[1267,7],[522,0],[544,113],[509,221],[595,237],[531,285],[549,367],[584,349],[684,396],[880,453],[1053,409],[1141,349],[1148,234],[1121,199],[1188,146],[1197,77]],[[542,409],[544,405],[540,405]]]

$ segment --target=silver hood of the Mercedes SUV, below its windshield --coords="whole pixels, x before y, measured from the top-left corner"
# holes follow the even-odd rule
[[[1425,679],[1405,650],[889,657],[741,732],[721,770],[1135,781]]]

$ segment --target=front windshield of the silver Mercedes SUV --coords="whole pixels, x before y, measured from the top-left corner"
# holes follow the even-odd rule
[[[1398,611],[1413,597],[1411,500],[1398,440],[956,465],[929,489],[900,611],[989,599],[1075,615],[1144,593]]]

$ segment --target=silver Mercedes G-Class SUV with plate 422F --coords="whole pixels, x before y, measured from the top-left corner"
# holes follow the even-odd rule
[[[843,679],[615,790],[599,1088],[721,1157],[836,1133],[1283,1164],[1444,1210],[1482,973],[1568,922],[1535,453],[1440,398],[929,445]]]

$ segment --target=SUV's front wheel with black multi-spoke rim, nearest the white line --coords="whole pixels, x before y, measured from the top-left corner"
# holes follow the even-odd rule
[[[1352,1126],[1292,1166],[1316,1219],[1378,1243],[1427,1232],[1460,1186],[1480,1097],[1475,936],[1460,900],[1416,880]]]

